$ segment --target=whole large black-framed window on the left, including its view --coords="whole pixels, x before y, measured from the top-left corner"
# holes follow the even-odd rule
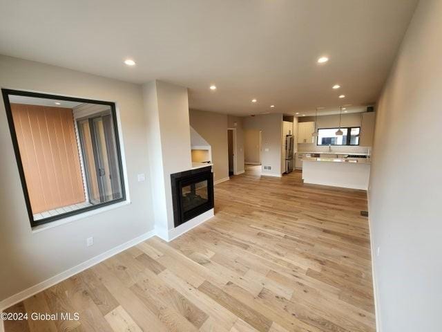
[[[32,226],[125,199],[115,104],[3,91]]]

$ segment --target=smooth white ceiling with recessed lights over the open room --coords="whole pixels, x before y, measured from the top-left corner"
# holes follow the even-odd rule
[[[376,102],[416,3],[0,0],[0,53],[128,82],[174,82],[189,87],[194,109],[311,115]],[[318,65],[323,55],[330,60]],[[128,57],[137,65],[125,66]]]

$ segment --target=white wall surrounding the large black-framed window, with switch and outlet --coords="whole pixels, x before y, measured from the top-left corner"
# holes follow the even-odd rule
[[[141,86],[0,56],[1,88],[113,101],[122,127],[131,204],[32,233],[3,101],[0,102],[0,300],[153,230]],[[146,181],[137,182],[137,174]],[[86,247],[93,236],[94,246]],[[7,254],[7,255],[6,255]]]

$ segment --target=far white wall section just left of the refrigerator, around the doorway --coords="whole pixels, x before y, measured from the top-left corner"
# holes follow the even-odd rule
[[[282,150],[282,114],[262,114],[244,118],[243,127],[262,131],[261,173],[280,176]],[[265,151],[268,149],[268,151]],[[247,160],[249,161],[249,160]],[[271,169],[264,169],[270,166]]]

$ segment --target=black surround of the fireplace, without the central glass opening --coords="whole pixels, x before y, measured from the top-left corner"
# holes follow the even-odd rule
[[[207,202],[184,212],[182,207],[182,188],[192,183],[207,181]],[[199,216],[200,214],[213,209],[213,173],[212,167],[201,167],[189,171],[171,174],[172,203],[173,203],[173,223],[175,227],[182,225],[186,221]]]

